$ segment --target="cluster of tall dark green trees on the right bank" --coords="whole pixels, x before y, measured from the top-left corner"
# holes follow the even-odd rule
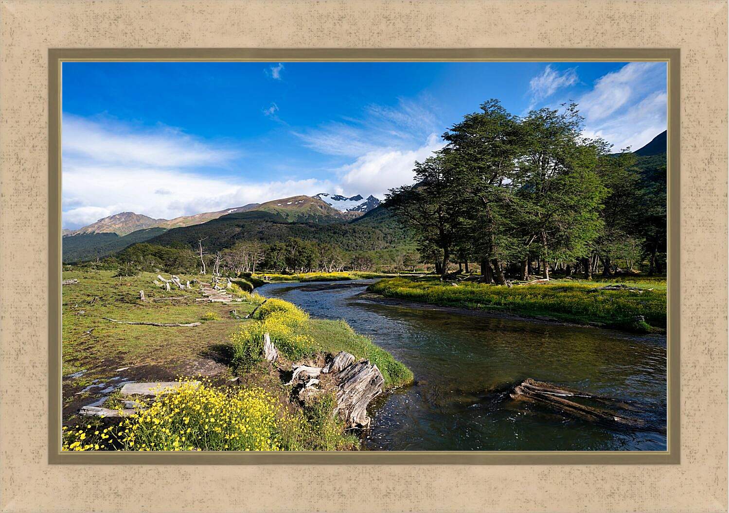
[[[490,100],[443,139],[385,203],[441,275],[478,262],[495,283],[555,268],[590,278],[615,273],[617,259],[663,272],[665,154],[642,165],[627,150],[609,154],[606,141],[582,136],[575,104],[517,117]]]

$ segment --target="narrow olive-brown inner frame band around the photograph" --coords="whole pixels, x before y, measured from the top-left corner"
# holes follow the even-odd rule
[[[666,451],[90,452],[61,445],[61,65],[94,61],[663,61],[668,87],[668,425]],[[48,52],[50,225],[49,463],[87,464],[549,464],[679,463],[680,52],[636,49],[50,49]]]

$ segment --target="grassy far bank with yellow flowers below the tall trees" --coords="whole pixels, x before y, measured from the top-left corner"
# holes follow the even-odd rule
[[[590,291],[608,282],[618,283],[618,280],[556,280],[546,284],[507,287],[474,282],[459,282],[453,286],[432,278],[391,278],[373,283],[369,290],[385,297],[432,305],[502,311],[521,316],[547,316],[560,321],[630,331],[660,331],[666,328],[665,278],[631,280],[631,286],[644,289],[642,293]],[[636,322],[636,316],[643,316],[645,323]]]

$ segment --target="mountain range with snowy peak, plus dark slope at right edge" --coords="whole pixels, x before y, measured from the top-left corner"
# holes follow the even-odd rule
[[[658,134],[634,152],[636,168],[648,181],[665,184],[666,135]],[[195,247],[203,238],[212,251],[241,240],[273,243],[288,237],[332,243],[345,251],[394,251],[415,245],[378,198],[321,192],[175,219],[114,214],[78,230],[64,230],[63,262],[106,257],[136,243]]]

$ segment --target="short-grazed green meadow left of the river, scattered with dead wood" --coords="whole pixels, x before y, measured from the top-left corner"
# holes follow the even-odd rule
[[[179,367],[185,361],[200,359],[200,353],[227,340],[241,321],[230,316],[235,308],[243,316],[253,305],[235,302],[195,302],[202,297],[193,286],[191,291],[173,289],[165,291],[153,283],[156,274],[114,278],[114,271],[72,270],[63,273],[63,279],[77,278],[79,283],[63,286],[63,375],[79,369],[104,372],[132,364],[154,364]],[[168,275],[163,275],[169,278]],[[181,275],[183,283],[208,277]],[[180,301],[141,302],[139,291],[147,299],[182,297]],[[95,299],[98,298],[98,299]],[[150,321],[158,323],[199,322],[206,314],[218,316],[219,321],[203,321],[190,328],[163,328],[136,326],[106,321]],[[111,367],[107,369],[107,367]]]

